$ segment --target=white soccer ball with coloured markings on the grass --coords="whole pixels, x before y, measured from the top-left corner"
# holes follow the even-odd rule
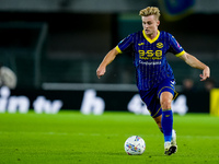
[[[128,155],[141,155],[146,150],[146,142],[139,136],[131,136],[126,140],[124,148]]]

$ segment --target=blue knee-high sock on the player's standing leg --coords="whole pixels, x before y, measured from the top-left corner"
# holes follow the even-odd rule
[[[173,113],[171,109],[162,112],[161,126],[163,129],[164,141],[171,142],[173,129]]]

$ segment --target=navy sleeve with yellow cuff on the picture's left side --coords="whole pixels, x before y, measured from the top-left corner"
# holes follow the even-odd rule
[[[116,50],[122,54],[132,45],[132,35],[128,35],[116,46]]]

